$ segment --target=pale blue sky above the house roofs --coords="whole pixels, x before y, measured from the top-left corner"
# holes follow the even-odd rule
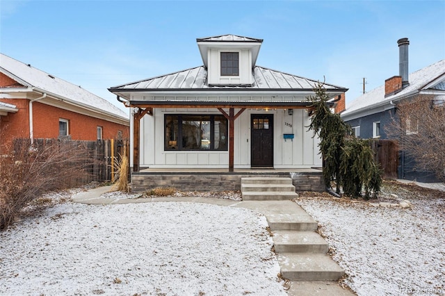
[[[107,88],[202,65],[196,38],[264,39],[257,65],[349,88],[347,102],[445,58],[445,0],[8,1],[0,51],[120,106]],[[122,107],[123,108],[123,107]]]

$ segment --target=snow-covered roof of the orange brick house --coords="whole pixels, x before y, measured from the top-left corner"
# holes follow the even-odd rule
[[[88,92],[88,90],[81,88],[79,85],[59,79],[4,54],[0,54],[0,71],[11,79],[18,80],[17,82],[35,88],[39,92],[47,92],[73,104],[91,107],[100,113],[107,113],[121,120],[128,120],[129,118],[129,115],[117,106],[106,101],[106,99],[102,99],[102,97]]]

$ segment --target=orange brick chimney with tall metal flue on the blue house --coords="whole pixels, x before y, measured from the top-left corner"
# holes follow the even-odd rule
[[[408,81],[408,45],[410,45],[410,40],[408,40],[408,38],[401,38],[397,40],[397,44],[398,76],[392,76],[385,80],[385,97],[395,94],[410,85]]]

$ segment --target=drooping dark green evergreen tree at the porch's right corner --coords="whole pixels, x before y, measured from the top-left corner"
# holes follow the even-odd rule
[[[332,189],[335,183],[337,194],[343,188],[344,195],[350,197],[362,196],[368,199],[371,191],[375,197],[380,192],[382,173],[375,165],[373,151],[369,140],[349,136],[350,126],[343,122],[340,115],[331,112],[323,83],[318,83],[314,89],[315,95],[308,99],[312,101],[312,117],[309,129],[318,134],[323,156],[323,179],[326,187]]]

